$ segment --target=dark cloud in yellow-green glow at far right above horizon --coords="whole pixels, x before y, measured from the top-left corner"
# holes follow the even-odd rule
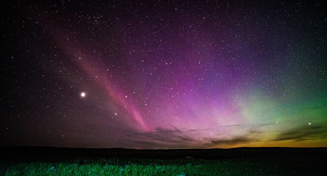
[[[301,126],[289,131],[280,133],[272,141],[293,140],[293,142],[301,142],[305,140],[314,140],[327,138],[327,128],[325,126]]]

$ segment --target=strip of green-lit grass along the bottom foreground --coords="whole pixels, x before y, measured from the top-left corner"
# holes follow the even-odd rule
[[[324,175],[315,160],[296,159],[118,159],[81,157],[10,158],[0,160],[8,176],[230,176]],[[317,165],[318,164],[318,165]]]

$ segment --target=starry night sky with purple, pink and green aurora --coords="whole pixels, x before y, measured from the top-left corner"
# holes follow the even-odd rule
[[[324,1],[1,6],[0,146],[327,147]]]

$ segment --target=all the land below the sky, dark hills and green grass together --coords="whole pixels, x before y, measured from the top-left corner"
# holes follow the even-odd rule
[[[326,175],[327,148],[1,147],[0,175]]]

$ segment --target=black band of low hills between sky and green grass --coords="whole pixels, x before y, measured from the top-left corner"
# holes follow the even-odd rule
[[[327,159],[327,148],[241,147],[232,149],[137,150],[124,148],[0,147],[1,157],[80,156],[147,159],[312,158]]]

